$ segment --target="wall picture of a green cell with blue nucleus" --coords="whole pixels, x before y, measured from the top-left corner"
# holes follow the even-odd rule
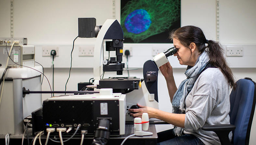
[[[172,43],[168,38],[181,26],[180,0],[121,0],[125,43]]]

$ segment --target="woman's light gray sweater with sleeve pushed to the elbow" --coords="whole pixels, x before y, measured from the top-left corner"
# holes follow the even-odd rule
[[[207,125],[230,124],[229,84],[219,68],[208,68],[199,75],[185,99],[185,107],[184,133],[195,135],[206,145],[220,145],[217,134],[201,129]]]

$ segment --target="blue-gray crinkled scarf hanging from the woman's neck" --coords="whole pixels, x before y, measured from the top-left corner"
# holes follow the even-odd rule
[[[207,52],[203,52],[196,60],[195,66],[185,71],[188,79],[181,82],[178,90],[175,92],[172,99],[172,113],[184,114],[185,113],[185,98],[194,86],[197,75],[202,72],[209,61]],[[174,126],[174,135],[181,136],[183,128]]]

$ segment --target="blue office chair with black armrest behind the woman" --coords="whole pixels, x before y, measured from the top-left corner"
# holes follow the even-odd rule
[[[230,125],[210,125],[203,130],[214,131],[222,145],[249,145],[251,123],[255,110],[256,89],[251,78],[240,79],[230,93]],[[233,130],[233,131],[232,131]],[[232,142],[228,134],[232,131]]]

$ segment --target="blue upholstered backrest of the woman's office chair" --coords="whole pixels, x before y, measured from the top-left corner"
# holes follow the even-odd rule
[[[251,123],[255,110],[255,82],[250,78],[236,82],[236,89],[230,94],[230,124],[236,125],[233,131],[234,145],[248,145]]]

